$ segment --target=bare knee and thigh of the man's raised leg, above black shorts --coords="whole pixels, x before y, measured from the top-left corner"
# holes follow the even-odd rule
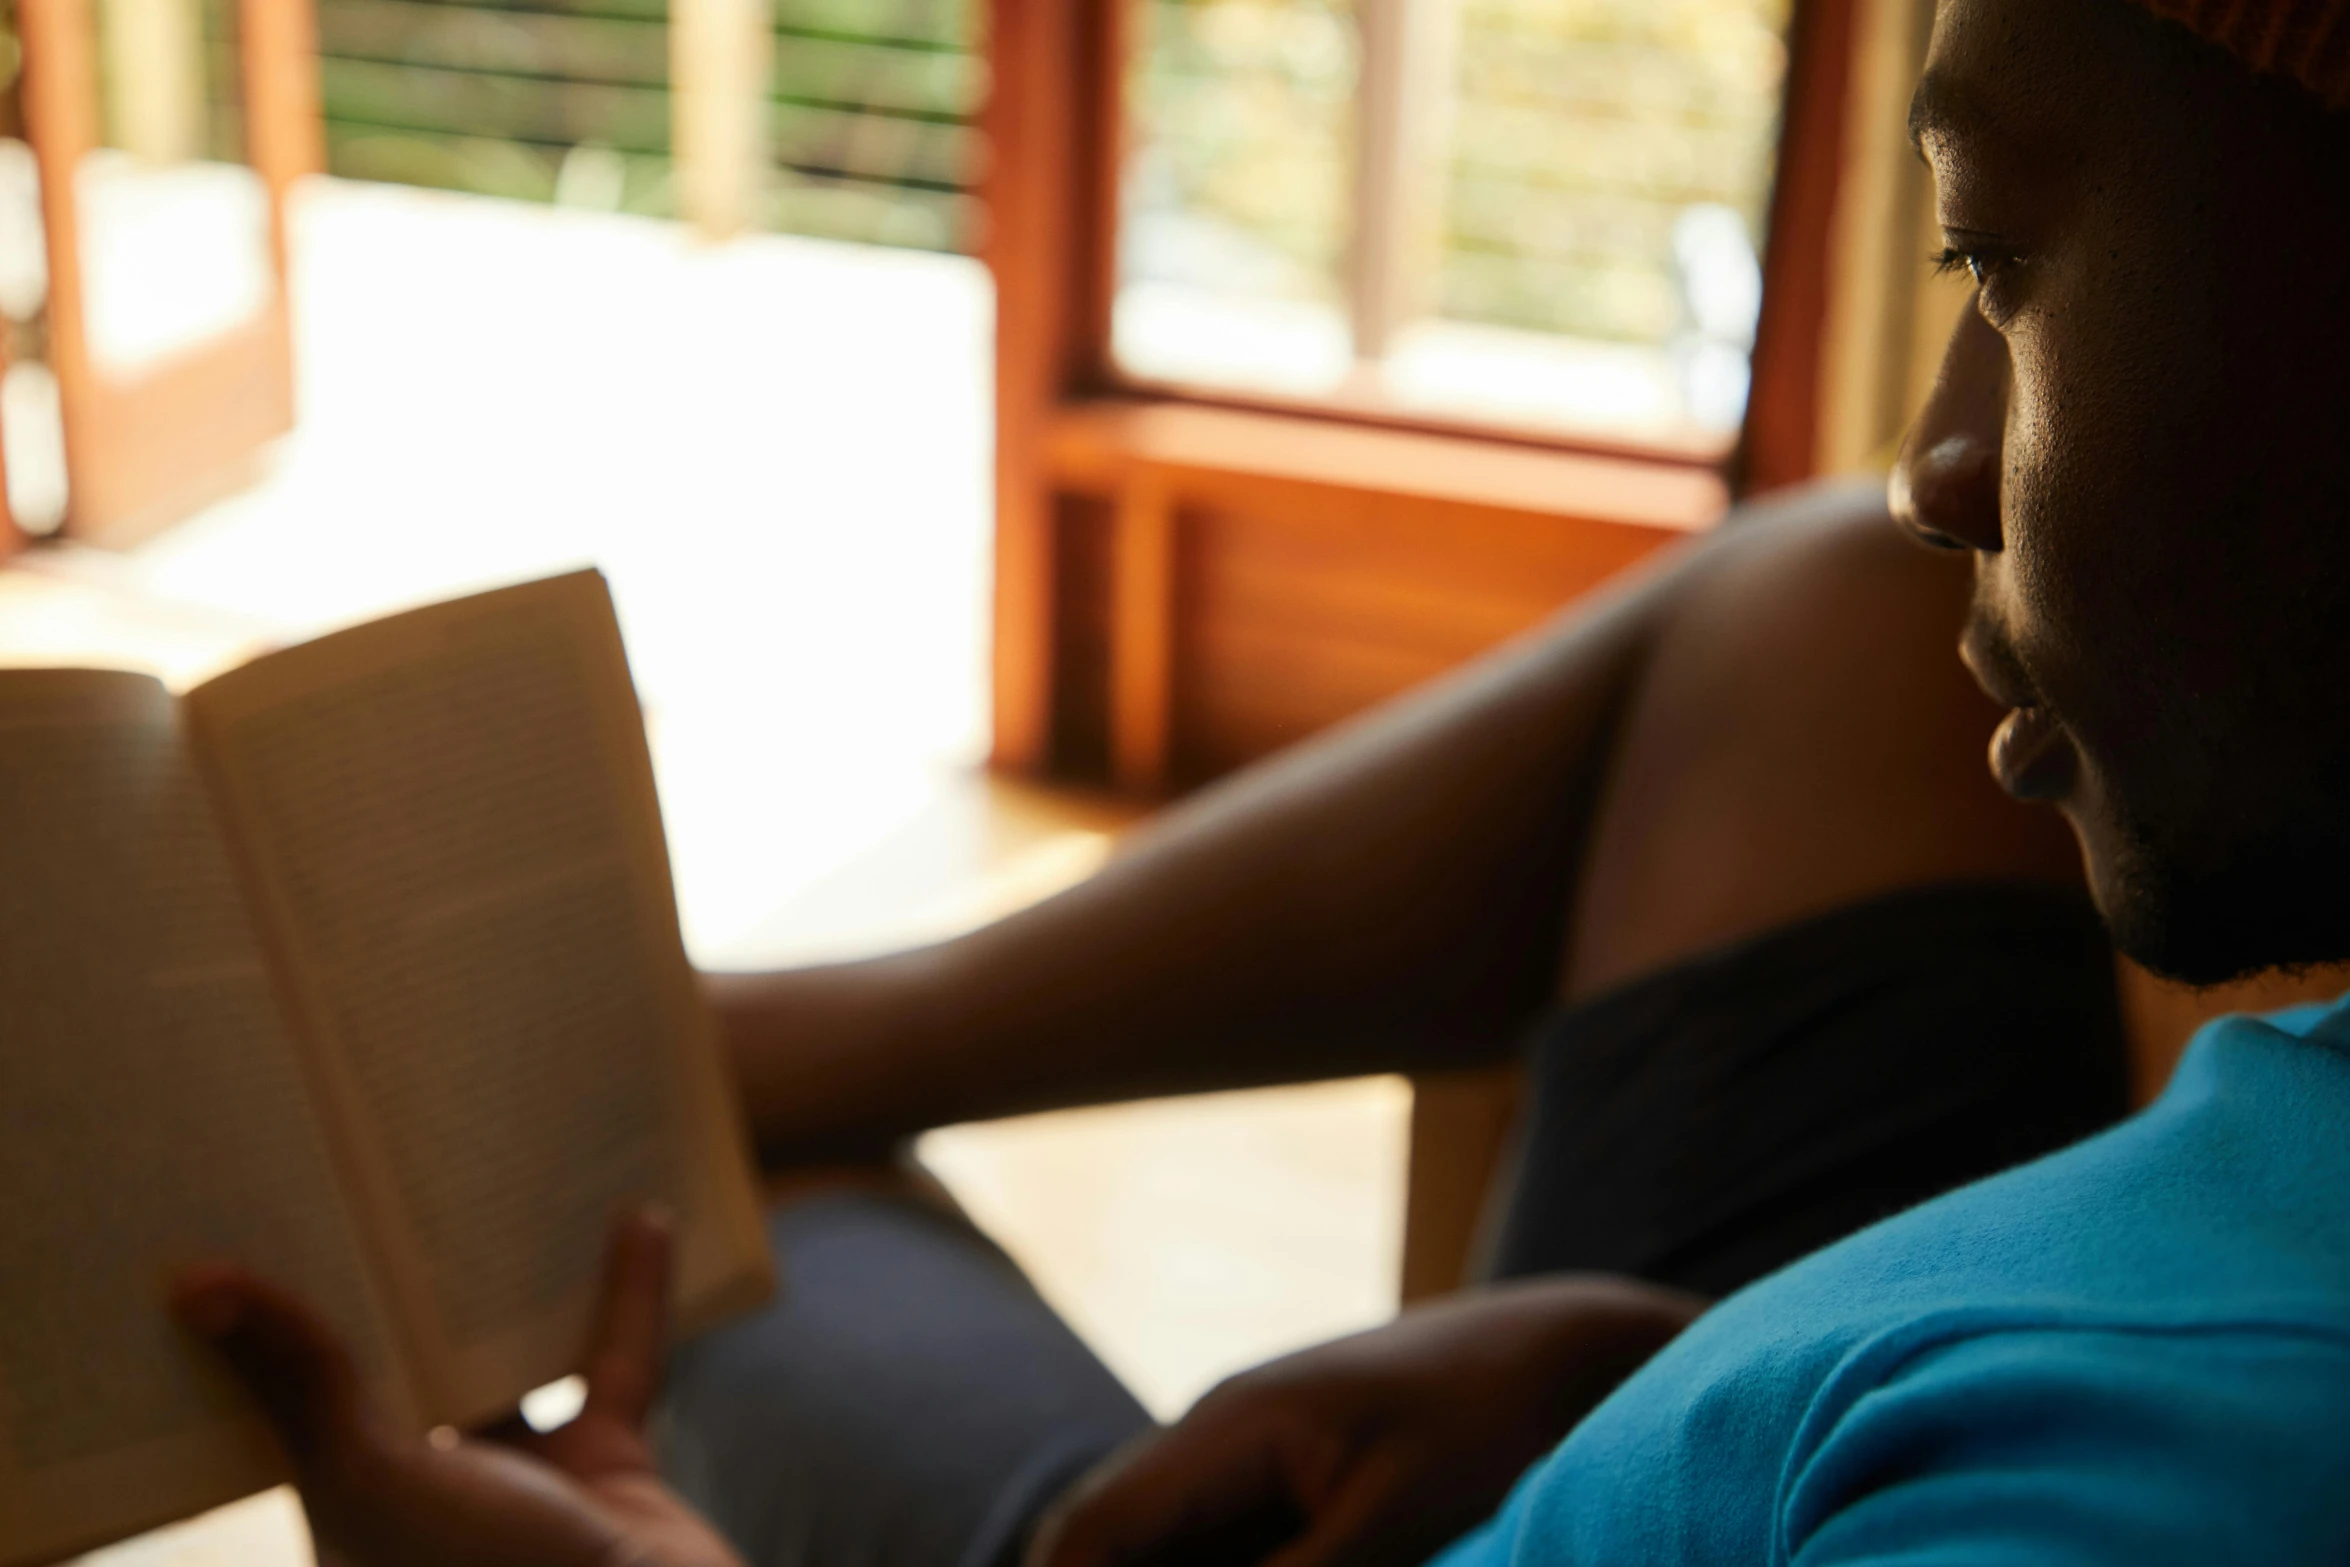
[[[1596,820],[1570,989],[1934,881],[2077,876],[1958,663],[1969,571],[1875,491],[1758,507],[1676,597]]]

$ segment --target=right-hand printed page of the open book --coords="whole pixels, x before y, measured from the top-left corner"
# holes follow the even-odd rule
[[[679,1212],[689,1316],[764,1294],[602,578],[273,653],[188,707],[432,1414],[573,1370],[627,1205]]]

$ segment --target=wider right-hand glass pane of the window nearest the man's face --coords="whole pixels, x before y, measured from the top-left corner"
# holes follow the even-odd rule
[[[1788,0],[1462,0],[1408,402],[1727,432],[1746,409]]]

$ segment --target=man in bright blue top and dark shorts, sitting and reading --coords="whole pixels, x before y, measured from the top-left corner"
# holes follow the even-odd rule
[[[1941,0],[1913,122],[1979,289],[1892,489],[1948,557],[1791,503],[996,930],[721,989],[776,1158],[1499,1057],[1563,998],[1497,1255],[1612,1278],[1149,1433],[952,1217],[811,1201],[785,1302],[672,1370],[679,1492],[759,1567],[2343,1560],[2350,1006],[2214,1024],[2138,1118],[1704,1304],[2110,1111],[2075,872],[1969,787],[1981,707],[1911,655],[1960,618],[1993,771],[2059,806],[2124,951],[2350,959],[2341,103],[2341,0]],[[472,1534],[418,1553],[454,1480],[303,1419],[331,1358],[251,1351],[343,1560],[728,1560],[585,1466],[468,1478]]]

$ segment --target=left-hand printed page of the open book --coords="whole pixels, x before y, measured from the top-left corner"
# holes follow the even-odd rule
[[[242,1262],[350,1337],[395,1417],[388,1313],[197,787],[132,674],[0,672],[0,1562],[280,1478],[164,1309]]]

